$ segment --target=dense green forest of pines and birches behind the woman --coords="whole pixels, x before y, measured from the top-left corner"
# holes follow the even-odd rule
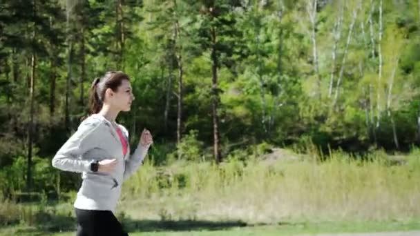
[[[109,70],[131,77],[130,144],[153,134],[144,171],[415,153],[419,27],[416,0],[1,1],[0,199],[77,189],[50,161]]]

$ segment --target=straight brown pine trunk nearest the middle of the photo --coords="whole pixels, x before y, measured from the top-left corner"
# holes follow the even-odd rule
[[[211,115],[213,117],[213,156],[216,160],[216,164],[221,161],[220,157],[220,146],[219,146],[219,126],[218,126],[218,57],[216,54],[216,28],[211,26],[211,74],[212,74],[212,93],[213,102],[211,104]]]

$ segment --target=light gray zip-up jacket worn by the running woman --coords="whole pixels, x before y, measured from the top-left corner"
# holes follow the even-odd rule
[[[120,126],[128,143],[128,131]],[[93,114],[82,121],[77,131],[61,146],[53,158],[53,166],[60,170],[82,173],[82,186],[77,193],[75,208],[111,210],[115,212],[124,180],[142,164],[149,146],[139,144],[130,155],[122,153],[120,137],[110,121]],[[95,160],[117,159],[111,174],[94,173],[90,164]]]

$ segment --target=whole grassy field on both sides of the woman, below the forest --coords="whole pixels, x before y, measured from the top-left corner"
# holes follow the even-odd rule
[[[145,164],[124,183],[117,215],[131,232],[141,230],[138,235],[420,229],[415,220],[420,219],[419,154],[414,151],[397,162],[384,153],[363,161],[334,153],[322,162],[309,157],[220,166]],[[71,195],[61,204],[3,201],[0,220],[11,226],[0,232],[53,235],[48,232],[73,230],[70,201],[75,193]]]

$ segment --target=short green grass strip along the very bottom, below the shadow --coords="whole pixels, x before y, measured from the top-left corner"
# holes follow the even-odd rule
[[[149,226],[151,227],[151,226]],[[149,228],[150,229],[150,228]],[[131,236],[177,236],[177,235],[198,235],[198,236],[242,236],[242,235],[311,235],[318,233],[367,233],[367,232],[385,232],[385,231],[406,231],[419,230],[420,221],[411,222],[322,222],[312,223],[294,223],[278,225],[257,225],[257,226],[232,226],[226,228],[202,228],[201,230],[184,230],[184,228],[155,228],[155,231],[141,230],[142,232],[130,233]],[[0,231],[1,232],[1,231]],[[55,236],[73,236],[75,232],[68,233],[48,233],[30,228],[9,228],[3,230],[0,235],[55,235]]]

